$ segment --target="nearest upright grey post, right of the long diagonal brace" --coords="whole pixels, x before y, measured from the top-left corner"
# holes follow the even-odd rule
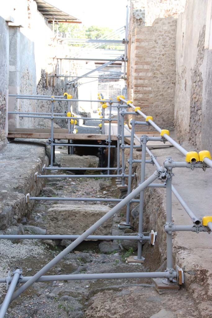
[[[172,177],[166,181],[166,224],[172,223]],[[172,263],[172,233],[166,233],[167,270],[173,268]]]

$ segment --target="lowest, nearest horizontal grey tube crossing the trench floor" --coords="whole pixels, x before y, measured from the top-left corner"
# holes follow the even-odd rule
[[[34,276],[25,276],[20,282],[28,282]],[[70,275],[52,275],[41,276],[37,281],[54,280],[96,280],[96,279],[126,279],[126,278],[174,278],[176,272],[142,272],[142,273],[102,273],[102,274],[70,274]],[[22,288],[22,287],[20,287]],[[20,289],[19,288],[19,289]]]

